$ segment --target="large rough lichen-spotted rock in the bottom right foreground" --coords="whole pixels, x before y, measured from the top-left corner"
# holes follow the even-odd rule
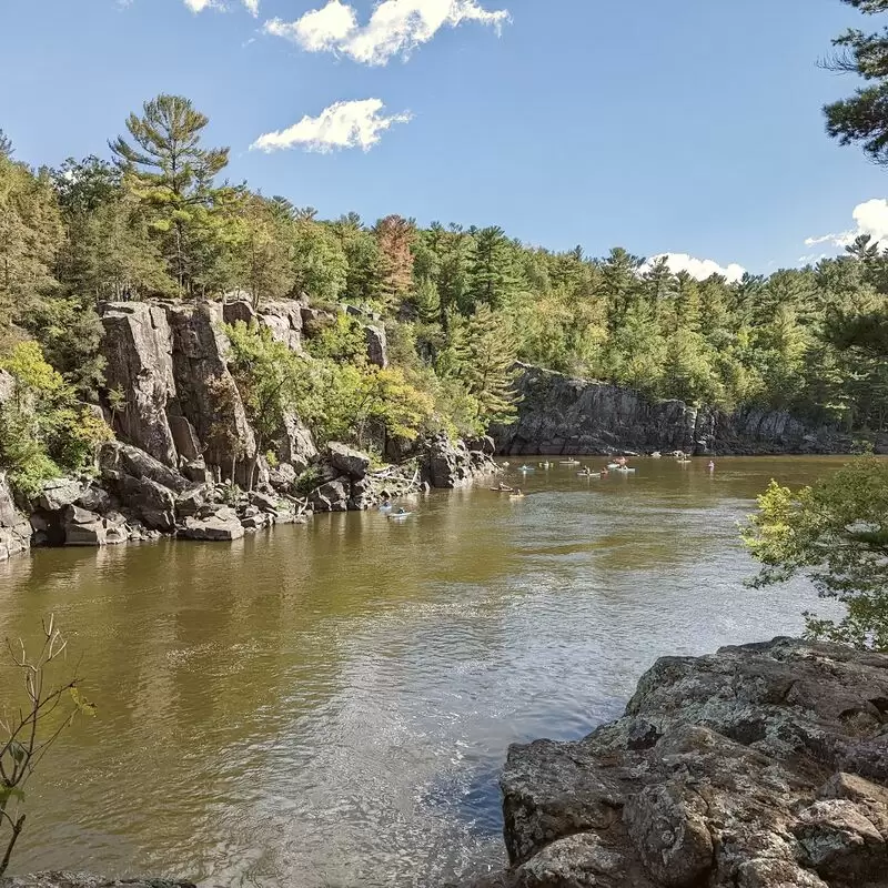
[[[504,888],[885,888],[888,655],[664,657],[618,722],[513,746]]]

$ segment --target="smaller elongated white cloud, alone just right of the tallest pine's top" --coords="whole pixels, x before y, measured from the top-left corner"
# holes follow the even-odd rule
[[[287,148],[303,148],[322,154],[343,148],[370,151],[393,123],[406,123],[412,118],[407,112],[386,117],[380,113],[383,108],[381,99],[336,102],[316,118],[306,114],[285,130],[260,135],[250,150],[271,153]]]

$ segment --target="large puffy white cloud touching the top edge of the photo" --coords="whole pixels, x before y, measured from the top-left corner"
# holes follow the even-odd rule
[[[508,20],[506,10],[486,10],[477,0],[383,0],[362,27],[353,7],[327,0],[296,21],[271,19],[264,30],[309,52],[341,52],[363,64],[385,64],[428,42],[445,26],[474,21],[498,31]]]

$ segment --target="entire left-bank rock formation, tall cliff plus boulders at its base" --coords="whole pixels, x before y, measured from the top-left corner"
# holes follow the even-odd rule
[[[379,319],[342,310],[362,325],[367,361],[385,367]],[[336,320],[305,302],[260,311],[244,300],[108,303],[101,320],[110,393],[104,417],[118,440],[102,446],[94,474],[47,482],[28,501],[17,500],[0,473],[0,561],[31,545],[103,546],[161,534],[239,539],[314,512],[366,509],[385,497],[461,486],[498,471],[491,438],[466,444],[443,436],[412,444],[408,454],[395,447],[394,462],[403,465],[371,468],[367,454],[343,444],[319,450],[295,413],[269,443],[270,464],[258,452],[229,367],[225,324],[255,322],[302,353],[304,339]],[[0,371],[0,403],[12,392]]]

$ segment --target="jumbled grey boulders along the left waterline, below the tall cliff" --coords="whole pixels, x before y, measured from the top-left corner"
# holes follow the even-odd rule
[[[243,491],[206,475],[192,480],[138,447],[110,442],[94,476],[47,482],[32,497],[13,495],[0,473],[0,561],[31,546],[104,546],[163,535],[233,541],[304,523],[315,512],[367,509],[384,497],[457,487],[498,472],[493,442],[477,446],[483,450],[438,436],[403,465],[371,468],[367,454],[331,443],[302,473],[282,463],[268,468],[255,490]]]

